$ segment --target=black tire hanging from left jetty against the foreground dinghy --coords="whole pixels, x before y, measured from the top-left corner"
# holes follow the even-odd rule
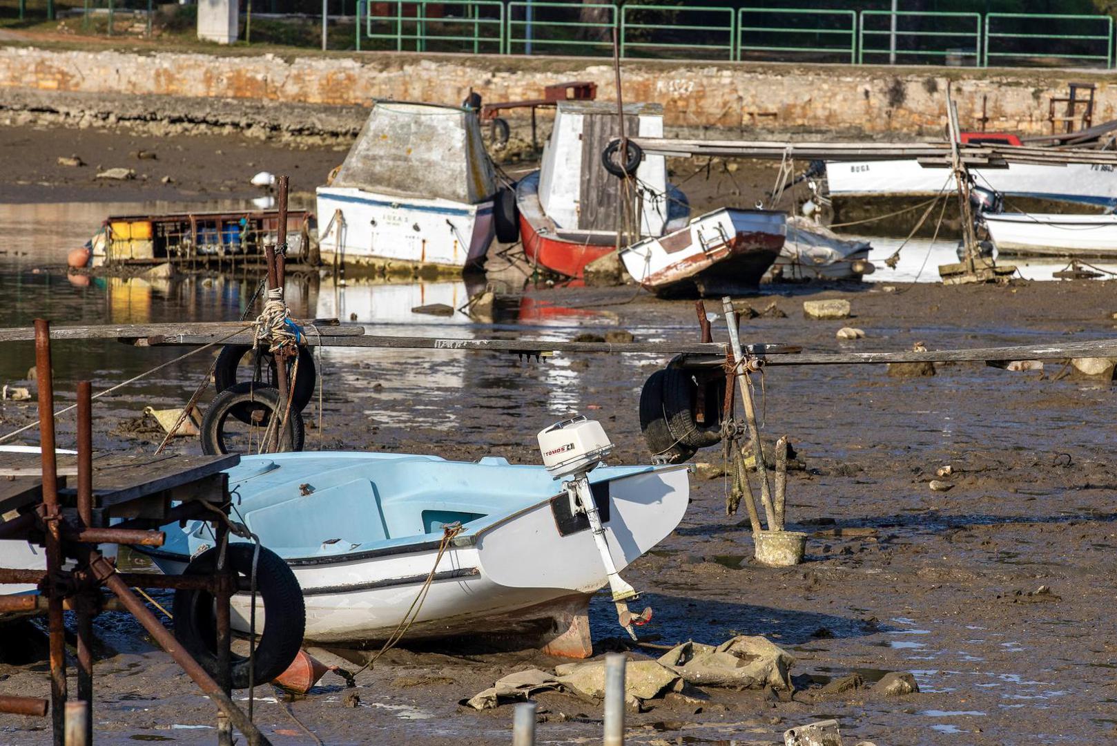
[[[254,544],[230,544],[227,561],[238,576],[251,577]],[[183,575],[212,575],[217,568],[217,547],[190,560]],[[271,681],[295,660],[306,633],[306,604],[303,591],[287,563],[279,555],[260,547],[256,566],[256,592],[264,604],[264,631],[252,655],[257,687]],[[247,593],[246,593],[247,595]],[[174,636],[206,671],[220,681],[217,668],[217,621],[213,594],[209,591],[174,592]],[[248,659],[232,654],[230,679],[233,689],[248,688]]]

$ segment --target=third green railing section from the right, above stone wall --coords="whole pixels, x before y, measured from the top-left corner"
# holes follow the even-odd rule
[[[755,19],[755,20],[753,20]],[[767,20],[767,23],[762,21]],[[812,25],[802,25],[813,21]],[[813,36],[813,46],[792,44]],[[782,39],[787,39],[782,41]],[[834,39],[837,45],[823,44]],[[754,54],[756,53],[756,54]],[[742,8],[737,15],[737,59],[789,55],[840,55],[857,62],[857,12],[811,8]]]

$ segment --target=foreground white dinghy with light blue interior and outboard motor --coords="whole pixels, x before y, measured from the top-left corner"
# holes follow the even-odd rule
[[[588,429],[599,435],[588,438]],[[372,644],[403,624],[408,641],[497,636],[584,658],[589,599],[602,586],[612,586],[622,625],[650,616],[627,613],[634,594],[617,572],[678,526],[688,472],[594,469],[612,446],[582,417],[544,431],[540,443],[547,466],[388,453],[244,456],[229,489],[244,522],[294,570],[309,642]],[[164,530],[166,544],[145,551],[168,574],[213,545],[207,523]],[[249,603],[233,597],[242,631]]]

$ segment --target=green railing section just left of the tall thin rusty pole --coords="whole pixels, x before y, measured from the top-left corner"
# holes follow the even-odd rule
[[[582,20],[583,13],[591,12],[605,13],[609,20]],[[619,15],[617,6],[605,3],[509,2],[505,49],[510,55],[585,54],[589,50],[610,56],[612,31]]]

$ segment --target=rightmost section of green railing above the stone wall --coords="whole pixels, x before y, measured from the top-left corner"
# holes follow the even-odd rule
[[[1097,30],[1086,32],[1082,27],[1087,23]],[[1035,40],[1041,44],[1029,44]],[[1101,54],[1102,49],[1105,54]],[[1108,68],[1114,63],[1114,19],[1110,16],[986,13],[985,65],[994,57],[1092,60]]]

